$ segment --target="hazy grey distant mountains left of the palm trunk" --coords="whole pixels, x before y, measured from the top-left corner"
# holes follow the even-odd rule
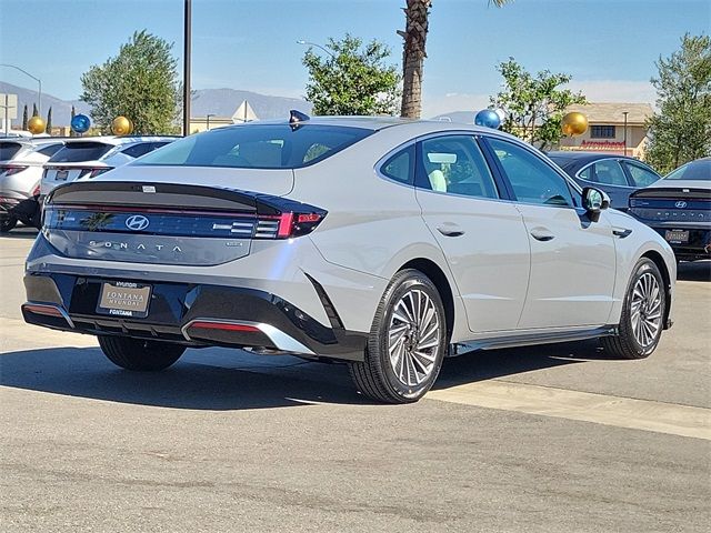
[[[0,93],[18,95],[18,120],[13,121],[14,128],[22,124],[22,109],[28,105],[28,113],[32,114],[32,104],[38,103],[37,90],[26,89],[0,81]],[[190,114],[193,118],[204,117],[208,113],[218,117],[232,117],[237,108],[247,100],[257,117],[260,119],[279,119],[289,117],[289,110],[298,109],[310,113],[312,105],[306,100],[297,98],[270,97],[251,91],[238,91],[234,89],[202,89],[194,91],[191,99]],[[42,93],[42,118],[47,120],[47,112],[52,108],[52,124],[69,125],[71,120],[71,107],[77,113],[89,114],[89,105],[80,100],[61,100],[51,94]]]

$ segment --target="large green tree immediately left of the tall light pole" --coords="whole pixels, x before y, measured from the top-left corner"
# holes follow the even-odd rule
[[[117,57],[92,66],[81,77],[81,99],[91,105],[91,117],[109,132],[119,115],[133,122],[138,134],[178,131],[179,83],[172,44],[148,33],[133,33]]]

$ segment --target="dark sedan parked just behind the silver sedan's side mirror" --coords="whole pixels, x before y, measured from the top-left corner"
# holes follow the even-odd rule
[[[659,179],[647,164],[634,158],[598,152],[549,152],[555,164],[582,188],[595,187],[610,197],[612,208],[627,211],[628,199],[638,189]]]

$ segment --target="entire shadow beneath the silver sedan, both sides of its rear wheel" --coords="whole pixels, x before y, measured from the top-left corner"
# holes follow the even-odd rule
[[[480,351],[444,361],[435,389],[604,359],[597,342]],[[116,368],[98,348],[53,348],[0,355],[0,385],[121,403],[244,410],[312,403],[372,404],[344,364],[240,350],[189,350],[163,372]]]

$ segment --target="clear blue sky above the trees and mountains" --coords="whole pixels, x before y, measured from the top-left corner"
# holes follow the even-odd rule
[[[399,63],[404,0],[193,0],[193,89],[233,88],[299,97],[307,81],[297,40],[346,32],[375,38]],[[63,99],[80,76],[148,29],[182,57],[182,0],[0,0],[0,62],[42,79]],[[495,64],[573,76],[592,101],[649,101],[654,61],[684,32],[708,33],[709,0],[434,0],[424,71],[424,115],[479,109],[497,91]],[[11,69],[0,80],[33,88]]]

